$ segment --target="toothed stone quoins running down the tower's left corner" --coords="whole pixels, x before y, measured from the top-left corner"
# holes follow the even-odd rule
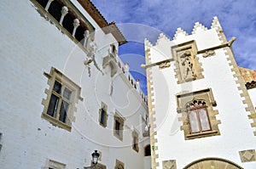
[[[144,41],[145,44],[145,59],[146,59],[146,64],[151,63],[151,55],[150,55],[150,47],[152,47],[152,44],[148,41],[148,39],[145,39]],[[148,88],[148,117],[149,117],[149,132],[150,132],[150,145],[151,145],[151,166],[152,169],[156,169],[157,166],[159,166],[159,163],[156,162],[158,159],[159,155],[155,152],[158,147],[155,146],[157,143],[157,139],[155,136],[157,135],[157,132],[154,131],[156,128],[156,125],[154,124],[155,122],[155,111],[154,111],[154,86],[153,86],[153,81],[152,81],[152,68],[148,67],[146,69],[147,73],[147,88]]]

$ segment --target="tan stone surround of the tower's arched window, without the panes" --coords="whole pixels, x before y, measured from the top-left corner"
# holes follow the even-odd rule
[[[183,130],[184,132],[185,140],[220,135],[218,124],[220,124],[221,122],[216,119],[216,115],[218,115],[218,110],[213,110],[213,106],[216,106],[217,104],[213,98],[211,88],[190,92],[190,93],[178,93],[176,94],[176,99],[177,99],[177,113],[180,113],[182,115],[179,118],[179,121],[183,121],[183,126],[181,127],[181,130]],[[210,131],[191,133],[190,126],[189,126],[188,110],[186,106],[187,104],[193,102],[194,100],[205,100],[207,104],[208,119],[211,125]]]

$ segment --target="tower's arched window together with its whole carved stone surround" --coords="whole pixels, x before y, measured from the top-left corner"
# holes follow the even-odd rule
[[[213,110],[214,106],[216,101],[211,88],[177,94],[177,113],[181,114],[181,130],[186,140],[220,135],[218,110]]]

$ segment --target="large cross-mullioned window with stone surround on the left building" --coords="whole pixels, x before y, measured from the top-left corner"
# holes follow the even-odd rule
[[[61,74],[55,68],[50,74],[44,73],[49,78],[49,90],[46,90],[47,99],[43,100],[44,112],[42,117],[55,126],[71,130],[74,121],[73,111],[78,102],[80,87]]]

